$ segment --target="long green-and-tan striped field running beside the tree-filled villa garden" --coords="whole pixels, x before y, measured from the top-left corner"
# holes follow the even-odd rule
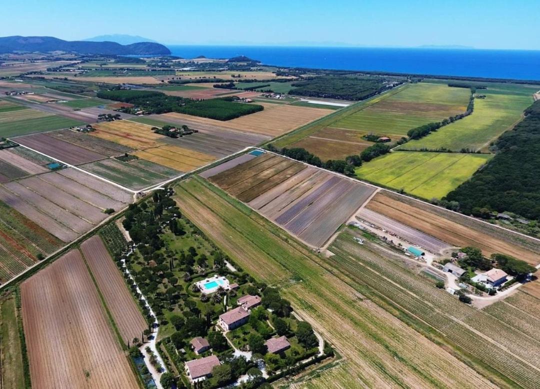
[[[221,190],[199,179],[184,181],[176,190],[182,213],[242,268],[262,282],[291,280],[281,292],[344,357],[348,376],[340,380],[343,387],[492,386],[323,268],[321,257]],[[334,382],[324,377],[326,384]]]

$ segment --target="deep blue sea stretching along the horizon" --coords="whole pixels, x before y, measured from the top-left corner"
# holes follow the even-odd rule
[[[167,45],[173,56],[246,56],[266,65],[540,80],[540,51]]]

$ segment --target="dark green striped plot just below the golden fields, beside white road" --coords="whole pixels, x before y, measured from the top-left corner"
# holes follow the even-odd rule
[[[107,159],[88,163],[81,167],[133,190],[144,189],[180,175],[178,170],[142,160],[122,162],[116,159]]]

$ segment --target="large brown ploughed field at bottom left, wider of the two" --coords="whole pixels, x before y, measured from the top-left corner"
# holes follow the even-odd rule
[[[23,282],[21,297],[33,388],[138,387],[78,250]]]

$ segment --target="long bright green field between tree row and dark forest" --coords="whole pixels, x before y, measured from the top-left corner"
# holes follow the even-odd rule
[[[486,98],[475,99],[471,115],[444,126],[427,137],[412,140],[401,148],[435,150],[445,147],[453,151],[460,151],[462,148],[486,151],[490,142],[522,118],[523,110],[532,104],[534,91],[530,87],[519,85],[488,85],[487,90],[477,91],[477,94],[485,94]]]

